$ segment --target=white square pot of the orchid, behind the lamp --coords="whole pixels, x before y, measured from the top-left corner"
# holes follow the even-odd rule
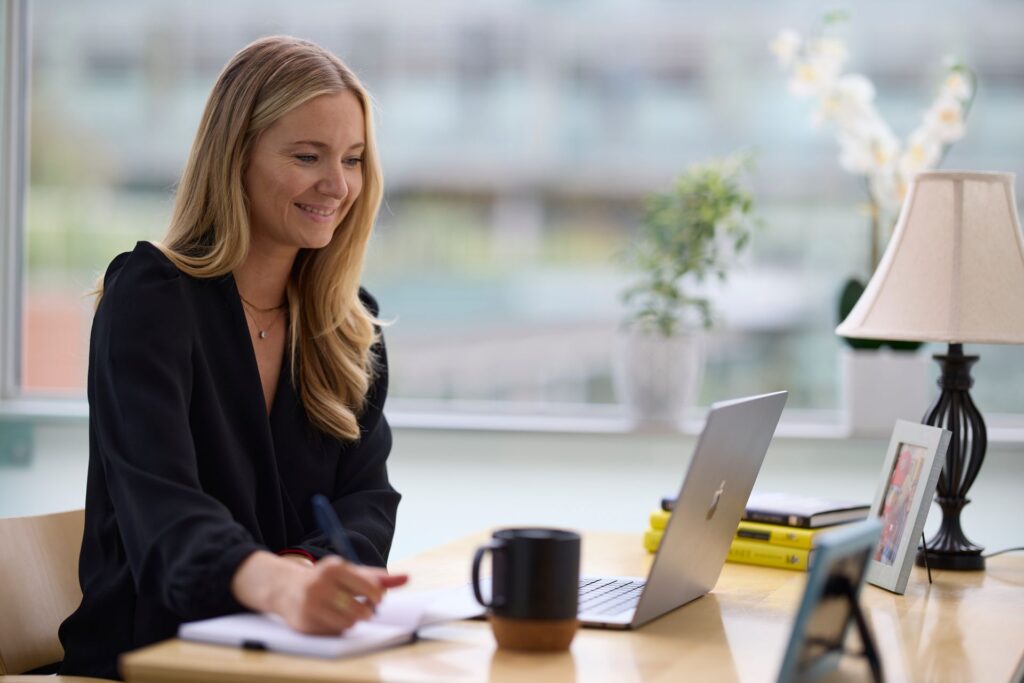
[[[889,436],[896,420],[921,422],[938,393],[939,368],[921,351],[844,348],[843,408],[854,436]]]

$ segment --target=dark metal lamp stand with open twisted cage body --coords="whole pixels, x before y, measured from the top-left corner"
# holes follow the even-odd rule
[[[918,550],[916,563],[937,569],[984,569],[983,548],[968,540],[959,521],[961,511],[971,502],[967,492],[981,470],[988,445],[985,421],[970,394],[974,384],[971,366],[978,356],[964,355],[963,344],[949,344],[945,355],[936,353],[932,357],[942,367],[938,381],[942,392],[922,422],[945,427],[952,437],[935,494],[942,508],[942,524],[928,545]]]

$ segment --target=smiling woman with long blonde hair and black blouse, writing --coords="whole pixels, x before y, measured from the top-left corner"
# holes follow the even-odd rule
[[[381,201],[369,97],[333,54],[249,45],[207,102],[161,245],[103,279],[89,357],[81,606],[61,673],[244,608],[340,633],[406,581],[374,299]],[[331,499],[365,565],[318,532]]]

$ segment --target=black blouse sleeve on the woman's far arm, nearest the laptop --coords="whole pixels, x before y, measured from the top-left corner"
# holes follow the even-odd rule
[[[368,309],[377,315],[377,302],[365,291],[360,295]],[[384,417],[388,370],[383,337],[374,351],[378,360],[377,374],[359,418],[361,436],[355,443],[341,445],[331,503],[359,559],[365,564],[384,566],[391,550],[401,496],[391,486],[387,474],[391,428]],[[310,533],[295,548],[316,558],[339,552],[318,531]]]

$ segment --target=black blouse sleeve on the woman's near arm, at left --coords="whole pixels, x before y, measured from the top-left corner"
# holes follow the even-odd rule
[[[177,268],[137,248],[96,312],[89,381],[91,427],[136,590],[182,621],[241,609],[231,578],[261,548],[200,485],[191,327]]]

